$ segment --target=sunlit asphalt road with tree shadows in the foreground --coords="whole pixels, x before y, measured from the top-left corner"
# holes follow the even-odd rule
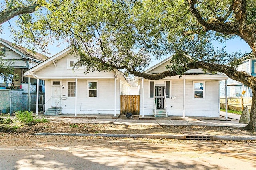
[[[256,169],[255,141],[5,136],[1,170]]]

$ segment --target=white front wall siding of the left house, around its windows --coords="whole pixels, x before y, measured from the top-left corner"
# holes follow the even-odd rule
[[[62,79],[62,96],[65,95],[66,99],[62,100],[62,113],[74,114],[75,113],[75,97],[68,97],[67,95],[67,82],[74,81],[75,79]],[[98,97],[88,97],[88,80],[98,81]],[[120,93],[119,81],[117,81],[116,88],[116,113],[120,114]],[[51,97],[51,80],[46,81],[46,101]],[[77,95],[77,114],[90,114],[90,113],[110,113],[114,114],[114,79],[78,79]]]

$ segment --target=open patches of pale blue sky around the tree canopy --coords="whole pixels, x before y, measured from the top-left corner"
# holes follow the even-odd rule
[[[14,20],[14,19],[12,19]],[[12,23],[12,20],[10,21],[12,26],[14,26],[15,24]],[[0,34],[0,37],[8,40],[10,42],[14,42],[12,40],[12,38],[14,38],[10,32],[10,28],[9,28],[9,23],[5,22],[4,24],[1,25],[2,26],[2,34]],[[224,45],[226,46],[226,50],[228,53],[232,53],[232,52],[236,52],[236,51],[241,51],[241,52],[251,52],[252,50],[250,49],[249,45],[244,41],[241,40],[240,38],[234,38],[232,40],[228,40],[225,44],[223,43],[219,43],[219,42],[214,42],[213,43],[214,47],[218,47],[219,49],[222,48]],[[49,50],[48,52],[50,54],[48,54],[48,57],[52,57],[53,55],[55,55],[56,53],[59,53],[60,51],[66,49],[69,45],[67,43],[54,43],[52,45],[48,45],[47,49]],[[41,53],[41,51],[37,51],[39,53]],[[156,65],[157,63],[159,63],[160,61],[164,60],[166,57],[160,59],[160,60],[153,60],[152,63],[146,68],[150,68],[154,65]]]

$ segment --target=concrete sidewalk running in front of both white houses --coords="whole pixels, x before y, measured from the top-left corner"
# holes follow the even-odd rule
[[[46,117],[46,116],[44,116]],[[132,119],[125,118],[124,115],[113,117],[112,114],[92,114],[92,115],[57,115],[47,116],[47,119],[53,122],[68,122],[68,123],[108,123],[119,125],[173,125],[173,126],[226,126],[226,127],[245,127],[247,124],[239,123],[236,119],[225,120],[223,117],[167,117],[155,118],[145,117],[140,118],[138,115]]]

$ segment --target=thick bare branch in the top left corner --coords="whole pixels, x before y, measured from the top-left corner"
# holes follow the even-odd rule
[[[20,6],[13,9],[5,9],[0,12],[0,24],[3,24],[4,22],[20,14],[33,13],[36,11],[36,7],[41,7],[41,6],[40,4],[35,2],[34,4],[29,6]]]

